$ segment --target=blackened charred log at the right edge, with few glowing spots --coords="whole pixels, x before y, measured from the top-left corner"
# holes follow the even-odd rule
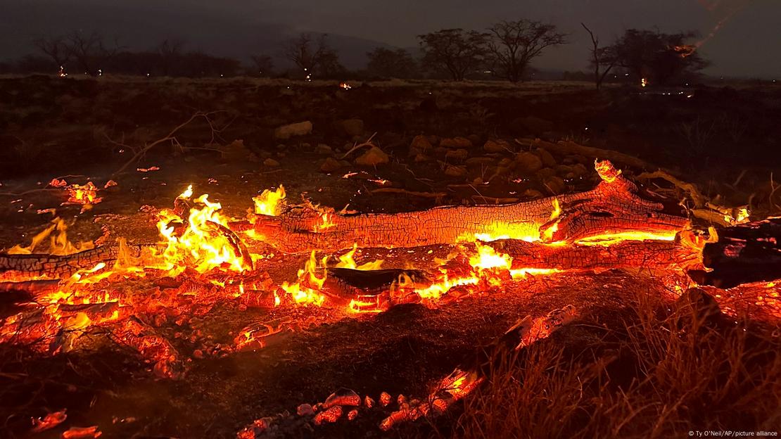
[[[702,250],[711,271],[695,274],[699,284],[729,288],[781,277],[781,218],[726,227],[718,235]]]

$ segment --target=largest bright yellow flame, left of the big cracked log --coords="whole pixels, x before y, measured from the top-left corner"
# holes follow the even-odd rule
[[[192,195],[190,185],[177,201],[187,205]],[[221,209],[222,205],[209,202],[209,195],[204,194],[194,200],[186,221],[173,210],[159,212],[157,227],[167,241],[162,252],[164,269],[173,273],[187,267],[198,273],[218,267],[237,272],[251,269],[251,259],[241,255],[243,243],[228,229],[229,219],[220,214]]]

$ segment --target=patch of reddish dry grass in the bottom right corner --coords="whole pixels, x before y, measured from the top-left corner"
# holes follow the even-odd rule
[[[515,358],[498,359],[490,382],[465,402],[448,435],[626,438],[778,430],[778,328],[714,318],[691,302],[669,308],[641,298],[617,323],[576,323]],[[566,342],[577,334],[580,341]]]

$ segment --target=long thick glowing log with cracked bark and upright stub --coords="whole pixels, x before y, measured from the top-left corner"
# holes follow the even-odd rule
[[[311,205],[287,206],[279,216],[254,215],[255,233],[284,252],[358,247],[455,244],[480,237],[575,242],[590,237],[642,235],[672,239],[688,225],[641,198],[635,184],[609,162],[597,162],[602,182],[591,191],[512,205],[444,206],[395,214],[331,214]],[[247,227],[241,223],[235,227]]]

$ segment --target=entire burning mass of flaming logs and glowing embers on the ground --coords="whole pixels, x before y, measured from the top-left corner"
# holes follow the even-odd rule
[[[29,245],[0,255],[0,291],[23,295],[3,318],[0,341],[41,356],[121,347],[153,376],[182,380],[203,360],[273,351],[328,324],[382,319],[404,306],[447,309],[506,294],[512,286],[544,288],[544,282],[590,279],[613,269],[661,273],[664,287],[680,294],[694,286],[687,273],[721,273],[703,255],[718,248],[719,236],[740,236],[738,229],[719,236],[711,231],[706,238],[691,230],[682,212],[640,191],[611,162],[596,162],[595,169],[600,182],[590,191],[396,214],[337,212],[306,199],[293,204],[280,185],[262,191],[246,216],[236,218],[209,195],[195,196],[190,186],[172,207],[150,210],[159,240],[149,244],[121,237],[116,244],[73,244],[64,220],[56,218]],[[73,188],[59,180],[53,186]],[[85,187],[98,190],[91,183],[73,189]],[[94,192],[83,198],[99,200]],[[732,227],[749,227],[742,221]],[[766,221],[766,234],[776,233],[775,223]],[[41,252],[47,240],[50,246]],[[750,250],[768,252],[777,244],[767,245]],[[394,248],[407,250],[399,256]],[[434,252],[437,257],[430,256]],[[283,262],[300,268],[294,276],[280,274],[275,264]],[[712,287],[714,297],[729,315],[777,318],[778,287],[771,279],[753,280],[729,291]],[[216,341],[199,320],[225,309],[256,317],[234,323]],[[522,319],[499,345],[525,349],[575,316],[567,306]],[[380,428],[388,430],[448,411],[485,377],[480,365],[472,365],[438,380],[422,399],[399,395],[392,404],[389,394],[374,392],[374,399],[344,389],[298,412],[316,425],[382,412]],[[34,428],[54,428],[58,419],[65,423],[64,411],[51,419],[41,415]],[[239,437],[255,437],[273,425],[273,419],[257,419]],[[63,427],[70,428],[70,437],[97,437],[103,426]]]

